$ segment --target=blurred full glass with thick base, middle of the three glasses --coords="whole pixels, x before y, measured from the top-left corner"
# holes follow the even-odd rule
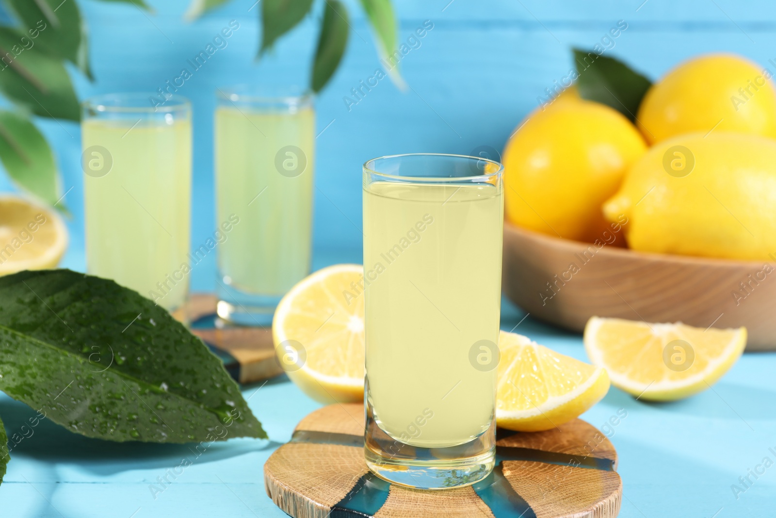
[[[313,98],[293,88],[219,89],[215,113],[218,315],[271,322],[310,273],[315,158]]]

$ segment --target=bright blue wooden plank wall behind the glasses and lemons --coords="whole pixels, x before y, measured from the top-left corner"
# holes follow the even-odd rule
[[[68,0],[74,1],[74,0]],[[232,0],[195,23],[182,15],[189,0],[151,0],[155,14],[113,2],[79,0],[92,43],[96,81],[72,74],[81,97],[116,91],[156,91],[190,68],[187,60],[230,20],[240,23],[178,93],[194,106],[192,248],[215,227],[213,216],[213,107],[217,86],[241,82],[307,84],[317,38],[317,15],[255,61],[259,39],[255,0]],[[374,75],[378,57],[358,2],[348,2],[353,33],[341,69],[317,99],[315,245],[361,246],[361,165],[393,153],[468,154],[480,145],[497,150],[521,119],[538,106],[573,66],[570,47],[608,47],[651,78],[695,54],[732,51],[764,66],[776,58],[776,9],[767,2],[635,0],[425,0],[396,3],[400,40],[425,20],[434,28],[400,67],[410,89],[383,79],[348,110],[345,96]],[[628,28],[605,40],[624,20]],[[776,69],[774,69],[776,71]],[[331,125],[330,125],[331,124]],[[74,212],[65,266],[82,267],[82,183],[79,131],[73,123],[43,121],[63,172],[65,202]],[[213,287],[213,257],[192,274],[196,289]]]

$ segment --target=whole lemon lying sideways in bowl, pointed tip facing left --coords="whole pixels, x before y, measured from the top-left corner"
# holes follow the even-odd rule
[[[632,249],[765,260],[776,252],[774,207],[776,141],[714,131],[650,148],[604,212],[627,218]]]

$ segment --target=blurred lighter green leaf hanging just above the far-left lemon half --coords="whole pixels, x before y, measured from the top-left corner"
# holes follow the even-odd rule
[[[0,160],[9,176],[41,200],[57,203],[57,164],[54,153],[25,116],[0,110]]]

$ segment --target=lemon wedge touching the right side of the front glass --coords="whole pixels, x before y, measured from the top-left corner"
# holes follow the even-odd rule
[[[522,335],[498,339],[496,422],[522,432],[552,429],[595,405],[609,390],[606,370],[540,346]]]

